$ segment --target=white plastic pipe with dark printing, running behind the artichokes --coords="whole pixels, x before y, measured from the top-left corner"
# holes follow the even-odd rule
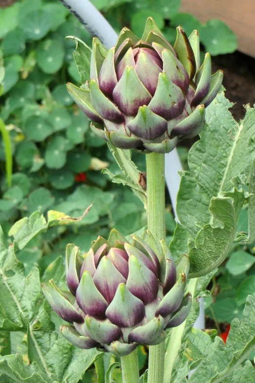
[[[98,37],[106,48],[111,48],[116,44],[118,35],[112,26],[107,22],[104,16],[97,8],[88,0],[59,0],[69,11],[85,26],[87,31],[93,36]],[[68,34],[68,31],[66,31]],[[165,178],[174,216],[176,214],[177,193],[180,186],[181,177],[178,172],[182,170],[180,158],[177,150],[165,155]],[[205,328],[204,300],[200,298],[200,314],[194,327],[199,329]]]

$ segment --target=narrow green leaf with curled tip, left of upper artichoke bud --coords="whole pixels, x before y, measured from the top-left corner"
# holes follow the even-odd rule
[[[91,49],[77,37],[67,36],[66,40],[75,40],[76,42],[76,51],[73,52],[73,56],[81,76],[82,88],[85,89],[86,81],[90,80]]]

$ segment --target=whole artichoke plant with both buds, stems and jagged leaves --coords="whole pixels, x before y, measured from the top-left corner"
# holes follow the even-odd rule
[[[197,31],[188,38],[178,27],[172,47],[149,18],[142,40],[124,28],[116,47],[109,50],[97,38],[92,51],[75,40],[82,86],[68,84],[69,93],[92,119],[92,131],[107,141],[121,169],[120,174],[105,173],[113,182],[131,187],[144,203],[148,229],[128,237],[112,229],[107,239],[95,239],[85,254],[68,244],[65,272],[61,260],[56,260],[42,276],[43,306],[39,270],[35,266],[25,276],[15,251],[49,226],[83,217],[50,211],[46,222],[35,212],[11,227],[14,246],[10,248],[0,233],[3,339],[5,332],[24,332],[29,361],[34,362],[28,366],[19,357],[3,356],[0,379],[77,383],[95,363],[98,381],[105,376],[106,383],[112,383],[119,363],[110,364],[104,355],[111,355],[121,360],[123,383],[188,382],[191,370],[195,383],[208,379],[234,383],[244,376],[252,381],[254,369],[245,361],[255,349],[251,296],[241,323],[233,321],[226,346],[214,333],[192,327],[199,314],[199,297],[208,294],[215,268],[234,240],[250,243],[254,238],[254,109],[247,107],[241,125],[234,122],[223,91],[217,95],[222,72],[211,76],[209,54],[200,65]],[[198,134],[201,140],[190,151],[190,170],[182,174],[179,222],[169,247],[164,154],[179,140]],[[146,155],[146,175],[138,171],[129,149]],[[246,182],[248,193],[238,188]],[[238,215],[246,203],[249,233],[236,236]],[[62,335],[54,333],[59,327]],[[47,345],[56,344],[53,351],[44,346],[45,337]],[[7,339],[8,334],[8,344]],[[140,345],[149,346],[149,370],[142,376]]]

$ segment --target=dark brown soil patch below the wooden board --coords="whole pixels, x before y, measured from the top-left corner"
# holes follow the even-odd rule
[[[224,71],[223,85],[226,97],[234,102],[231,109],[236,120],[243,118],[243,105],[255,104],[255,59],[240,52],[212,58],[212,72]]]

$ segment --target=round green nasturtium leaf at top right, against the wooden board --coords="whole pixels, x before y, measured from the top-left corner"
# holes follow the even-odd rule
[[[212,56],[233,53],[237,49],[234,32],[221,20],[210,20],[202,25],[200,41]]]

